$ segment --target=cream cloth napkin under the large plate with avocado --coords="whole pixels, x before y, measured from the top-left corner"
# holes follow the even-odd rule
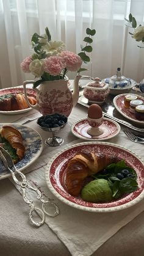
[[[121,137],[125,137],[122,131]],[[82,140],[77,139],[67,146],[79,142],[82,142]],[[115,142],[115,138],[110,142]],[[129,142],[128,139],[126,142]],[[135,146],[135,144],[132,145]],[[129,142],[129,147],[131,147],[131,142]],[[51,148],[51,152],[49,152],[48,147],[44,147],[43,154],[28,170],[25,170],[25,174],[29,172],[26,174],[27,180],[29,180],[33,186],[40,189],[45,199],[54,199],[54,203],[59,207],[60,214],[58,216],[55,218],[46,216],[45,222],[49,228],[56,233],[59,239],[67,246],[71,255],[90,256],[112,235],[118,232],[121,227],[128,224],[128,222],[132,221],[135,216],[144,210],[144,200],[126,210],[110,213],[90,213],[88,211],[77,210],[76,208],[62,203],[49,191],[45,181],[45,170],[52,156],[64,150],[64,148],[65,145],[61,148]],[[10,178],[10,180],[13,182],[12,178]],[[19,186],[15,186],[20,191]],[[41,207],[40,201],[36,199],[37,194],[31,190],[28,192],[29,197],[34,200],[35,206]],[[27,214],[28,213],[29,207],[27,205]]]

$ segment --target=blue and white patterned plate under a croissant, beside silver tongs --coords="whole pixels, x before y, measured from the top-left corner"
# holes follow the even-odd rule
[[[30,166],[32,163],[34,163],[34,161],[37,160],[38,156],[40,156],[41,152],[43,151],[42,138],[40,134],[37,133],[37,131],[30,127],[18,125],[16,123],[1,123],[0,128],[3,125],[10,125],[15,127],[17,130],[20,131],[20,133],[23,136],[23,142],[24,146],[26,147],[26,152],[24,154],[23,159],[21,159],[21,161],[18,161],[18,163],[15,164],[16,168],[22,171],[26,169],[28,166]],[[10,176],[10,172],[5,169],[0,159],[0,180]]]

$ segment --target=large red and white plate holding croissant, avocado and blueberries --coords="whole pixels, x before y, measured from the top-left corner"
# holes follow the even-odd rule
[[[81,197],[71,196],[65,189],[63,174],[65,173],[68,161],[76,153],[79,152],[103,152],[109,155],[117,156],[120,160],[124,159],[128,166],[131,166],[137,173],[137,183],[139,188],[131,192],[121,199],[109,203],[90,203],[85,202]],[[93,212],[110,212],[123,210],[135,203],[138,203],[144,197],[144,166],[142,160],[131,150],[121,147],[117,144],[108,142],[82,142],[71,147],[66,147],[65,150],[55,155],[48,163],[45,173],[46,183],[51,192],[59,200],[71,207],[79,210],[93,211]]]

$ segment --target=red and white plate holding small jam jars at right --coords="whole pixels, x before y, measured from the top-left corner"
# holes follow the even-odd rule
[[[136,119],[134,113],[131,113],[128,108],[124,107],[124,96],[128,93],[117,95],[115,98],[113,98],[113,104],[118,112],[120,112],[121,115],[126,117],[127,119],[131,120],[132,122],[139,123],[139,125],[144,125],[144,121],[140,121]],[[144,98],[140,95],[137,95],[137,98],[139,100],[143,100]]]

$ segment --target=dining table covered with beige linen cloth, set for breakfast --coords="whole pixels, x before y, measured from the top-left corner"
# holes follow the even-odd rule
[[[140,95],[142,93],[139,92]],[[82,91],[81,91],[82,95]],[[111,98],[114,96],[112,95]],[[71,111],[68,123],[58,136],[63,144],[49,147],[45,140],[51,136],[37,124],[40,112],[31,109],[18,115],[0,114],[0,123],[18,124],[31,128],[40,134],[43,150],[30,166],[23,170],[32,186],[38,188],[45,199],[50,199],[59,207],[55,217],[46,216],[40,227],[29,221],[29,205],[22,196],[21,189],[11,175],[0,179],[0,255],[1,256],[143,256],[144,255],[144,198],[131,207],[111,212],[91,212],[74,208],[59,200],[48,188],[46,170],[49,161],[68,147],[85,142],[74,136],[71,127],[78,120],[87,118],[88,108],[79,102]],[[126,120],[120,113],[116,116]],[[134,122],[126,120],[137,127]],[[120,133],[106,140],[106,143],[128,148],[143,161],[142,143],[135,143],[124,133],[126,126],[120,125]],[[131,128],[128,128],[131,130]],[[143,134],[143,133],[142,133]],[[101,141],[99,141],[101,143]],[[144,169],[143,169],[144,171]],[[27,192],[28,193],[28,192]],[[34,192],[29,196],[37,207],[40,200]],[[37,216],[35,217],[37,218]]]

